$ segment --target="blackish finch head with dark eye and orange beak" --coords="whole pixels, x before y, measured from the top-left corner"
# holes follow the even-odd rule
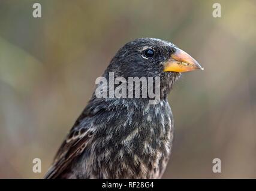
[[[203,67],[171,42],[155,38],[139,38],[120,48],[104,73],[115,77],[160,77],[164,97],[169,93],[180,73]]]

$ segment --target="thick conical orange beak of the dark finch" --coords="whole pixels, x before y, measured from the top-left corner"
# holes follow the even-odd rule
[[[171,54],[170,58],[164,63],[164,72],[189,72],[192,70],[204,70],[198,62],[188,53],[179,48]]]

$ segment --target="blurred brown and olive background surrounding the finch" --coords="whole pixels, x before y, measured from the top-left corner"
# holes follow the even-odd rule
[[[164,178],[256,178],[256,2],[219,0],[213,18],[215,2],[1,0],[0,178],[43,177],[95,79],[140,37],[171,41],[204,67],[169,96],[175,135]],[[222,173],[212,172],[214,158]]]

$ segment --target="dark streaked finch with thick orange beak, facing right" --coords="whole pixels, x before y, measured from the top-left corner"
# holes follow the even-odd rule
[[[148,95],[100,97],[94,91],[44,178],[161,178],[173,144],[173,115],[167,97],[181,73],[193,70],[203,67],[171,42],[137,38],[125,44],[102,77],[107,82],[110,73],[122,79],[151,77],[155,84],[158,78],[159,101],[150,104]],[[110,94],[109,87],[105,90]],[[143,84],[139,90],[144,90]]]

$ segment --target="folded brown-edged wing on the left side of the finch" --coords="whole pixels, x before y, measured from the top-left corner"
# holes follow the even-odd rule
[[[79,125],[80,119],[86,120],[88,116],[82,115],[77,119],[70,133],[58,150],[53,165],[44,178],[57,178],[76,156],[79,156],[94,135],[94,128]]]

